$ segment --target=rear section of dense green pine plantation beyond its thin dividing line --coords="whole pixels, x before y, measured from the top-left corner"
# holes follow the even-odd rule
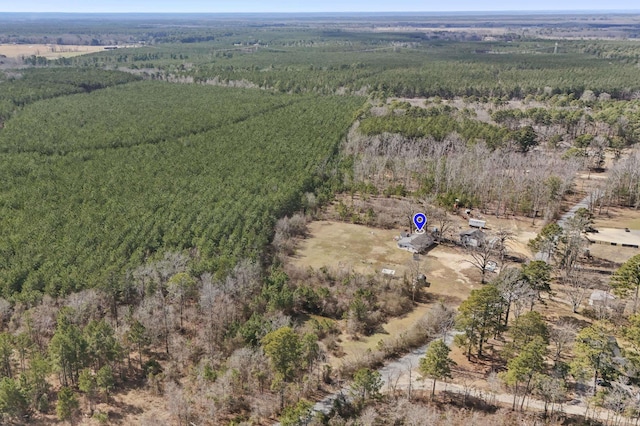
[[[269,93],[140,82],[36,102],[5,124],[5,152],[66,154],[175,141],[293,105]]]

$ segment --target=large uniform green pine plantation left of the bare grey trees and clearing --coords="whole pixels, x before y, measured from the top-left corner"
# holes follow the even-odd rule
[[[181,88],[200,102],[208,95],[215,110],[197,113],[189,96],[178,103]],[[21,143],[11,143],[18,140],[32,149],[0,160],[5,297],[96,286],[117,293],[128,270],[166,251],[191,250],[197,275],[224,275],[238,259],[258,258],[276,219],[299,209],[303,194],[322,184],[362,102],[308,96],[274,102],[262,91],[211,87],[197,95],[195,89],[151,83],[132,86],[130,95],[98,91],[63,99],[60,109],[54,101],[46,101],[50,109],[28,108],[15,118],[28,126],[7,123],[3,149],[20,151]],[[176,105],[163,109],[167,94]],[[127,109],[129,101],[139,109]],[[86,110],[66,114],[74,102]],[[56,115],[61,119],[52,121]],[[150,139],[140,131],[128,135],[141,123]],[[42,131],[25,139],[31,126]],[[154,127],[178,130],[165,139]],[[107,146],[90,149],[93,141]],[[125,148],[105,149],[110,145]],[[52,153],[58,150],[67,154]]]

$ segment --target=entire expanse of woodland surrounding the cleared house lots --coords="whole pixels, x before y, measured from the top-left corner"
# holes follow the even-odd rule
[[[354,20],[88,22],[76,42],[141,47],[3,65],[3,424],[637,422],[640,255],[597,259],[584,238],[640,207],[637,45]],[[0,39],[64,44],[77,25]],[[464,298],[430,294],[411,265],[394,280],[293,265],[314,220],[375,234],[416,208],[472,266]],[[460,242],[472,210],[538,226],[531,256],[507,229]],[[594,289],[617,299],[587,307]],[[558,301],[573,320],[549,319]],[[424,305],[345,361],[345,343]],[[428,386],[383,380],[426,344]],[[490,365],[487,398],[453,391],[455,351]],[[151,402],[136,412],[131,394]]]

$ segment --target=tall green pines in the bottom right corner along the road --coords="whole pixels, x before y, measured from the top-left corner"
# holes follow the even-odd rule
[[[628,277],[635,263],[616,273],[616,280],[624,281],[625,290],[635,290],[639,285],[637,272],[635,278]],[[567,383],[573,383],[578,392],[582,392],[580,384],[587,385],[590,395],[595,396],[594,404],[617,415],[635,415],[637,406],[630,381],[634,380],[638,367],[637,315],[629,318],[629,325],[623,330],[622,337],[631,347],[622,354],[614,337],[616,331],[606,321],[596,321],[579,332],[576,326],[563,321],[549,326],[540,313],[532,310],[539,296],[531,284],[535,280],[532,277],[544,275],[540,282],[544,283],[545,291],[550,291],[549,270],[545,262],[531,262],[522,271],[508,269],[496,282],[473,290],[459,308],[456,327],[463,334],[456,341],[463,345],[468,357],[472,350],[480,357],[490,339],[506,332],[507,338],[501,339],[506,340],[504,349],[492,356],[506,362],[506,370],[499,377],[513,394],[514,410],[518,406],[522,410],[526,398],[532,395],[545,402],[545,411],[554,404],[561,405],[569,390]],[[508,322],[510,312],[513,320]],[[567,363],[564,359],[569,348],[572,356]],[[448,348],[443,344],[430,348],[421,363],[423,375],[433,379],[448,377],[451,361],[447,355]],[[573,381],[568,382],[568,377]]]

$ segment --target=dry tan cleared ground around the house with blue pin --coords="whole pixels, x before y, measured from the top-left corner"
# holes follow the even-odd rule
[[[487,218],[488,225],[510,229],[515,239],[510,242],[511,252],[527,256],[526,242],[536,235],[538,225],[532,226],[528,220]],[[466,229],[464,220],[454,216],[456,232]],[[362,274],[380,274],[381,269],[393,269],[393,279],[402,279],[410,273],[413,255],[397,247],[396,237],[400,229],[378,229],[335,221],[316,221],[309,224],[309,237],[298,245],[291,258],[294,266],[300,268],[322,267],[353,270]],[[447,303],[459,304],[480,286],[480,272],[468,261],[470,258],[461,249],[444,245],[434,246],[427,254],[420,256],[420,272],[427,276],[431,286],[427,294],[434,299],[443,298]],[[489,274],[488,278],[491,278]],[[384,331],[371,336],[351,340],[346,333],[339,336],[344,356],[329,357],[334,366],[363,357],[367,350],[373,350],[380,340],[393,339],[411,328],[429,309],[429,304],[418,304],[407,315],[393,318],[385,323]]]

